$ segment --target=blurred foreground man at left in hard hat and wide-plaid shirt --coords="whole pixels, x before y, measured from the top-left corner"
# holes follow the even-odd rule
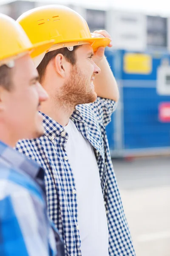
[[[64,255],[47,216],[44,171],[12,148],[44,133],[38,110],[48,95],[30,55],[52,44],[32,44],[16,21],[0,14],[0,256]]]

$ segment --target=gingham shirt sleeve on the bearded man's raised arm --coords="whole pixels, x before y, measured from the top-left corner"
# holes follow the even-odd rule
[[[116,110],[117,102],[112,99],[104,99],[97,97],[96,101],[90,103],[98,122],[107,126],[111,122],[111,115]]]

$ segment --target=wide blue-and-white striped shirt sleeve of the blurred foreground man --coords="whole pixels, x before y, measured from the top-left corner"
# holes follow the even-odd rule
[[[0,200],[0,256],[49,256],[48,231],[43,200],[26,189]]]

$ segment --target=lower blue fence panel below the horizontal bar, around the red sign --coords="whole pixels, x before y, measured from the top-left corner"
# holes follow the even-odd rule
[[[159,103],[170,97],[158,96],[156,88],[124,87],[125,149],[170,146],[170,123],[159,121]]]

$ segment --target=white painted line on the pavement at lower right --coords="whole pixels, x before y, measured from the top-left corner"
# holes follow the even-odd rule
[[[147,242],[159,239],[165,239],[170,237],[170,231],[158,232],[158,233],[149,233],[144,234],[138,237],[137,241],[139,242]]]

